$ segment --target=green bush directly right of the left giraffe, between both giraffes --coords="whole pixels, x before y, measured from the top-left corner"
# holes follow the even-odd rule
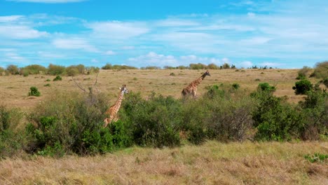
[[[140,146],[178,146],[180,144],[181,103],[172,97],[155,94],[143,100],[140,94],[129,93],[123,101],[125,118],[132,140]]]

